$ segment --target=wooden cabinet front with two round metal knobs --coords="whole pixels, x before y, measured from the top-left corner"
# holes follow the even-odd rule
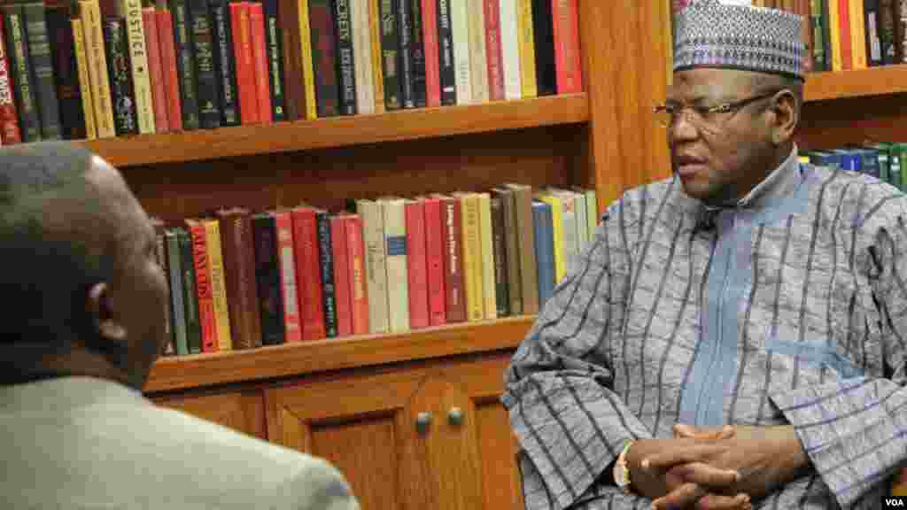
[[[509,354],[268,388],[268,436],[327,458],[366,510],[522,508],[498,400]]]

